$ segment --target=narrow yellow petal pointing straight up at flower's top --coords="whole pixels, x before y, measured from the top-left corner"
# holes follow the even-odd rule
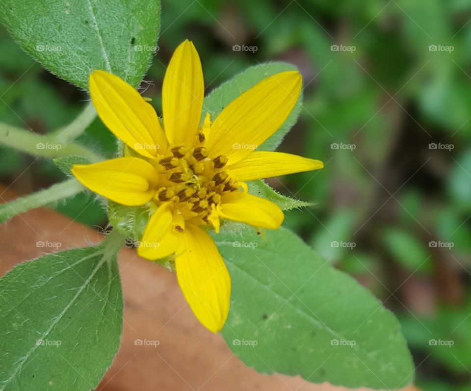
[[[191,147],[200,124],[205,93],[200,57],[186,40],[173,53],[162,86],[163,124],[168,141]]]

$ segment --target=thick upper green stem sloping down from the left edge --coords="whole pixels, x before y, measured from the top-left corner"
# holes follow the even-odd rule
[[[63,141],[55,132],[41,135],[0,123],[0,145],[38,157],[84,156],[91,161],[103,160],[80,144]]]

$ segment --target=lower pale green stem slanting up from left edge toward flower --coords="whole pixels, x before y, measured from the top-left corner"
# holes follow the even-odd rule
[[[78,194],[84,188],[74,178],[52,185],[48,189],[40,190],[25,197],[17,198],[14,201],[6,202],[0,205],[0,223],[8,220],[16,214],[26,212],[30,209],[43,207]],[[0,196],[1,201],[4,201]]]

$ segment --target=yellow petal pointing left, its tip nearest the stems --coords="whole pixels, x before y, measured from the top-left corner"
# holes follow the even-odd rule
[[[157,172],[144,159],[119,157],[94,164],[75,164],[72,174],[93,192],[118,204],[144,205],[155,194]]]

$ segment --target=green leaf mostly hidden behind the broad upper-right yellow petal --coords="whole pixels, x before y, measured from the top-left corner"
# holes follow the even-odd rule
[[[224,107],[264,78],[279,72],[296,70],[297,68],[294,65],[286,62],[267,62],[248,68],[231,80],[221,84],[205,98],[203,102],[202,121],[207,112],[209,112],[211,121],[213,121]],[[268,137],[268,139],[257,148],[257,151],[273,151],[280,145],[285,135],[298,120],[302,102],[303,97],[302,94],[300,94],[298,102],[291,110],[285,123],[273,135]]]

